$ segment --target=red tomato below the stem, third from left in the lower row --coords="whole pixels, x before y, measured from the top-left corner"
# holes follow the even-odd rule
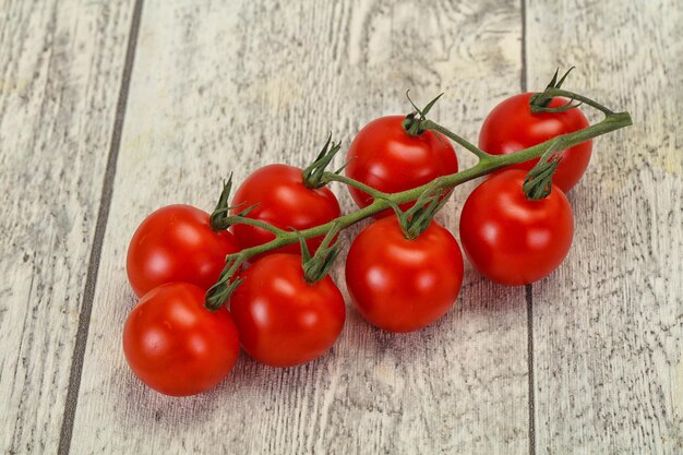
[[[396,217],[374,221],[354,240],[346,285],[371,324],[411,332],[443,316],[463,284],[463,255],[455,238],[436,221],[408,240]]]

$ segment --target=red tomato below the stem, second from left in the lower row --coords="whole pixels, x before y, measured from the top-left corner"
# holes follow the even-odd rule
[[[301,256],[277,253],[254,262],[230,298],[242,348],[272,367],[293,367],[326,352],[346,318],[344,297],[327,275],[303,276]]]

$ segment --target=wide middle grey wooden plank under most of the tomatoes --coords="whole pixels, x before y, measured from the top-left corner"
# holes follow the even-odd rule
[[[475,139],[516,92],[520,28],[519,5],[495,0],[145,1],[71,452],[526,453],[524,289],[470,270],[457,309],[428,330],[382,333],[349,309],[329,355],[292,369],[243,356],[196,397],[143,387],[120,348],[135,300],[125,249],[146,214],[209,208],[229,171],[303,165],[329,130],[348,145],[406,112],[406,88],[422,103],[445,91],[434,119]],[[453,230],[462,199],[442,216]]]

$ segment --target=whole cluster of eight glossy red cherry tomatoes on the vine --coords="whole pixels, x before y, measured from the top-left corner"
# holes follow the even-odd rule
[[[513,96],[489,115],[479,137],[482,151],[510,154],[588,125],[578,109],[532,113],[530,96]],[[554,98],[550,106],[563,103]],[[368,193],[372,189],[398,193],[457,172],[448,140],[435,131],[410,129],[410,118],[376,119],[351,143],[346,182],[359,207],[373,202]],[[530,199],[523,189],[534,163],[500,170],[469,194],[459,237],[477,271],[514,286],[539,280],[562,263],[573,237],[564,191],[584,173],[590,147],[587,141],[562,152],[556,184],[544,199]],[[252,223],[217,229],[207,213],[171,205],[140,225],[127,271],[141,300],[125,322],[123,351],[145,384],[167,395],[204,392],[230,372],[240,346],[274,367],[308,362],[331,349],[344,327],[344,297],[326,273],[315,275],[307,266],[331,251],[331,239],[324,236],[250,258],[230,277],[233,291],[225,302],[230,309],[204,307],[209,288],[226,279],[221,271],[227,255],[266,243],[278,232],[302,231],[340,216],[325,183],[311,179],[305,169],[269,165],[250,175],[224,209],[226,216]],[[441,204],[445,195],[429,204]],[[424,218],[426,207],[418,201],[396,205],[396,214],[378,209],[378,219],[349,248],[348,294],[362,318],[382,330],[420,330],[457,300],[464,273],[460,248],[452,232],[431,219],[433,214]],[[424,226],[411,230],[418,218]]]

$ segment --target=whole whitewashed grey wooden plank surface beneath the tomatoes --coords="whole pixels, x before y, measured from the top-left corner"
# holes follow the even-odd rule
[[[0,452],[682,454],[682,10],[0,0]],[[568,88],[635,125],[595,141],[570,194],[574,247],[549,278],[505,288],[467,265],[427,330],[383,333],[349,309],[317,361],[242,355],[196,397],[130,372],[124,256],[146,214],[211,209],[230,171],[303,165],[328,131],[348,145],[407,112],[407,88],[445,92],[432,117],[476,141],[496,103],[571,64]],[[454,232],[472,185],[440,215]]]

